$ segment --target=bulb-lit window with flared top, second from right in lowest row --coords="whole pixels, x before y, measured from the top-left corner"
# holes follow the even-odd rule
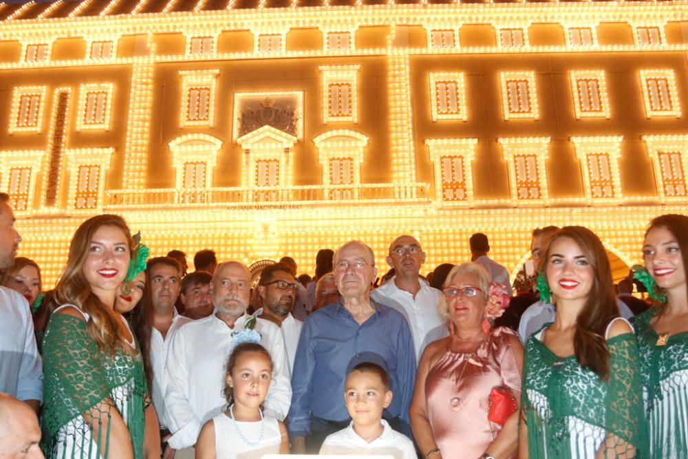
[[[585,201],[623,202],[619,160],[623,136],[574,136],[571,142],[581,164]]]

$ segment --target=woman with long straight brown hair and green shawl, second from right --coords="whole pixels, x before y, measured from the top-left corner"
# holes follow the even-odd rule
[[[557,315],[526,343],[519,459],[645,457],[638,345],[602,242],[562,228],[541,276]]]

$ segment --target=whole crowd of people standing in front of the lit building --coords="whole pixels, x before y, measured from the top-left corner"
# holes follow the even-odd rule
[[[513,286],[482,233],[426,276],[400,235],[385,275],[352,240],[255,285],[144,238],[89,218],[42,293],[0,193],[0,458],[688,458],[685,215],[619,286],[581,226],[533,231]]]

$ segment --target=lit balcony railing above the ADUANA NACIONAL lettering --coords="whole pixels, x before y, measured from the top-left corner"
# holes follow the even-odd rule
[[[104,207],[137,206],[283,206],[427,201],[425,183],[261,186],[256,188],[185,188],[109,190]]]

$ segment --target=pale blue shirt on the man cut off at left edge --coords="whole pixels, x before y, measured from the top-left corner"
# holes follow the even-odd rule
[[[0,392],[43,402],[43,363],[29,303],[5,287],[0,287]]]

